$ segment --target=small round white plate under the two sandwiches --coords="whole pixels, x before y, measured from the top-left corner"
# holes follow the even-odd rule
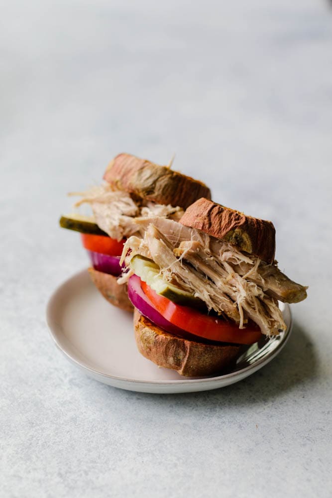
[[[286,332],[252,345],[231,371],[210,377],[182,377],[141,356],[136,349],[132,314],[111,306],[93,285],[87,270],[72,276],[54,292],[47,305],[47,323],[66,358],[101,382],[142,392],[203,391],[247,377],[281,351],[292,328],[290,307],[281,306]]]

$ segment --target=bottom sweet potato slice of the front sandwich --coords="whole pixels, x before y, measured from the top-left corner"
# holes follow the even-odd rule
[[[189,341],[154,325],[136,309],[134,330],[138,351],[159,367],[196,377],[219,373],[241,351],[238,345],[216,345]]]

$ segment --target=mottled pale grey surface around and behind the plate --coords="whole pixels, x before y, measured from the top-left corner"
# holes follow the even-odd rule
[[[331,496],[331,21],[314,0],[3,5],[1,497]],[[176,152],[216,200],[274,221],[280,267],[310,289],[262,371],[144,395],[56,351],[48,296],[86,265],[57,229],[65,193],[122,150]]]

